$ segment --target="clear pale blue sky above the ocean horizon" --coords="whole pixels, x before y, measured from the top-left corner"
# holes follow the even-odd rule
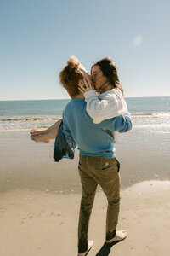
[[[59,71],[116,61],[125,96],[170,96],[169,0],[0,0],[0,100],[69,98]]]

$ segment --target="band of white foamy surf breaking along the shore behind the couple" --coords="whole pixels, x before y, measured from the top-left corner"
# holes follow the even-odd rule
[[[0,131],[24,131],[36,128],[47,129],[61,117],[54,116],[27,116],[4,117],[0,119]],[[133,129],[150,131],[170,131],[170,113],[133,114]]]

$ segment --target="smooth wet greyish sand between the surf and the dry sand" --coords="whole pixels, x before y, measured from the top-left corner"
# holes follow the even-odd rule
[[[147,136],[130,131],[118,138],[116,158],[121,162],[122,189],[150,179],[170,180],[170,135]],[[0,133],[0,192],[31,189],[80,193],[74,160],[54,162],[54,141],[35,143],[29,131]]]

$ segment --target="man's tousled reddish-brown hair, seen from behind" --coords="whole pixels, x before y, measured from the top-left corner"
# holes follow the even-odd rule
[[[80,93],[78,82],[80,79],[83,79],[82,72],[78,68],[80,64],[77,57],[71,56],[67,61],[67,65],[59,73],[59,82],[67,90],[72,99]]]

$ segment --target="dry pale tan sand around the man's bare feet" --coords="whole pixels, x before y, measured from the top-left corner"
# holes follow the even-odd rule
[[[1,256],[76,256],[81,195],[15,189],[0,194]],[[96,195],[89,239],[94,256],[105,240],[105,195]],[[122,190],[118,229],[125,241],[116,256],[167,256],[170,252],[170,182],[148,181]]]

